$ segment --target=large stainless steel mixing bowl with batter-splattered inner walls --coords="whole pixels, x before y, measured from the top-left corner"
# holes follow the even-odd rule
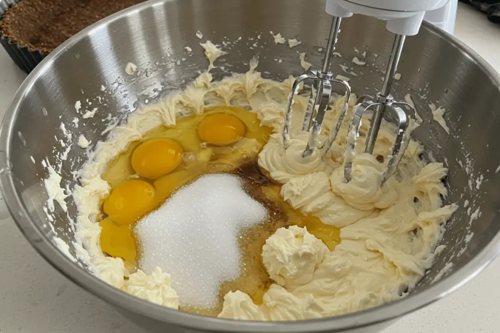
[[[105,139],[107,122],[103,120],[108,114],[124,119],[146,99],[149,103],[157,99],[154,95],[160,90],[182,87],[204,70],[207,61],[198,43],[205,39],[222,45],[231,42],[224,47],[228,53],[217,61],[225,70],[246,71],[248,61],[257,54],[264,77],[297,75],[302,69],[296,51],[307,52],[307,59],[316,66],[321,62],[318,46],[324,47],[330,24],[323,6],[319,0],[153,0],[94,24],[52,52],[19,88],[0,135],[2,191],[33,247],[62,274],[152,332],[377,332],[474,277],[500,249],[500,174],[496,173],[500,78],[469,48],[426,24],[407,40],[398,70],[402,77],[395,90],[401,98],[412,94],[425,120],[414,137],[425,144],[431,153],[428,158],[449,166],[446,202],[458,203],[459,209],[444,235],[446,248],[407,297],[368,311],[307,322],[218,320],[162,308],[116,290],[93,277],[84,265],[68,260],[52,243],[57,235],[69,242],[74,254],[66,215],[56,205],[55,220],[49,222],[43,211],[47,195],[41,179],[47,177],[47,170],[40,162],[47,158],[55,164],[54,150],[65,149],[57,141],[62,138],[61,122],[71,129],[73,141],[80,133],[93,143]],[[195,36],[197,30],[203,39]],[[297,37],[302,44],[293,49],[275,45],[269,30]],[[341,30],[337,50],[342,57],[335,58],[333,68],[342,73],[338,64],[354,67],[358,76],[350,80],[353,90],[374,91],[381,83],[378,67],[383,68],[392,36],[383,22],[365,17],[345,19]],[[365,50],[367,65],[354,65],[351,59],[362,58]],[[283,62],[278,63],[278,58]],[[128,62],[138,65],[140,75],[125,74]],[[217,70],[218,77],[224,74]],[[80,100],[85,107],[86,99],[98,111],[93,118],[80,119],[74,128],[73,118],[81,118],[74,104]],[[430,102],[447,110],[451,135],[432,120]],[[69,188],[75,184],[71,171],[84,161],[83,149],[73,145],[62,168],[63,183]],[[465,200],[468,207],[464,207]],[[68,206],[74,215],[71,198]]]

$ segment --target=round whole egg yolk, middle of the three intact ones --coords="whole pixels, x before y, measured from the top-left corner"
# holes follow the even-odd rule
[[[170,139],[151,139],[132,153],[132,168],[140,176],[156,179],[172,172],[182,162],[184,149]]]

